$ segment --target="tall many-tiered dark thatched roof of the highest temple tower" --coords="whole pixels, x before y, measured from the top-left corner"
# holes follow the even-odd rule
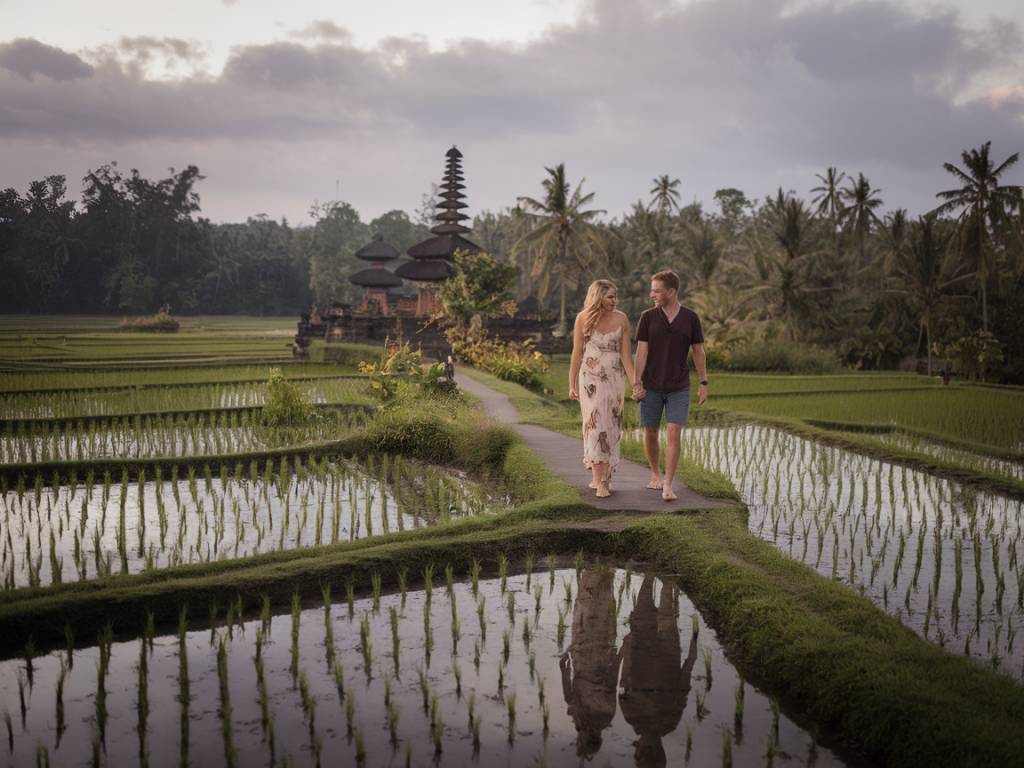
[[[434,237],[417,243],[407,251],[413,260],[395,270],[397,275],[406,280],[440,283],[455,274],[452,261],[455,259],[456,251],[479,253],[483,250],[463,237],[469,234],[470,228],[462,223],[469,219],[469,216],[462,213],[462,210],[468,207],[463,202],[466,196],[462,194],[466,188],[462,183],[465,181],[461,166],[462,153],[453,146],[445,153],[445,157],[447,160],[444,179],[441,182],[442,191],[439,196],[440,202],[436,205],[437,212],[434,214],[434,221],[437,224],[430,230]]]

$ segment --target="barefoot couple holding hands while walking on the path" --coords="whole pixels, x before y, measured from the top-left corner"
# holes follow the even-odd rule
[[[637,325],[637,356],[630,352],[630,321],[615,309],[615,284],[595,281],[587,291],[583,311],[572,329],[572,362],[569,397],[583,411],[583,463],[591,469],[591,487],[597,496],[611,494],[611,474],[618,464],[626,382],[640,401],[644,453],[650,465],[647,487],[660,489],[662,498],[676,498],[672,481],[679,463],[679,438],[689,420],[689,350],[699,377],[697,402],[708,397],[703,333],[700,319],[679,303],[679,275],[657,272],[650,281],[651,309]],[[658,456],[658,429],[665,412],[668,439],[665,474]]]

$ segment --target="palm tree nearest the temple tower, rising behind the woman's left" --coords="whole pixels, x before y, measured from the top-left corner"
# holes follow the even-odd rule
[[[581,274],[589,272],[598,256],[605,253],[600,230],[591,223],[600,209],[583,210],[594,200],[594,193],[583,194],[586,179],[581,179],[575,190],[569,194],[565,178],[565,164],[545,168],[548,178],[542,181],[544,200],[517,198],[534,227],[515,245],[516,250],[528,248],[532,256],[535,276],[540,278],[538,293],[544,298],[552,281],[560,292],[558,333],[566,333],[565,292],[575,288]]]

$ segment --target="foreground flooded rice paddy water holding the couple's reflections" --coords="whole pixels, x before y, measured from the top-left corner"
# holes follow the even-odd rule
[[[101,762],[134,765],[144,752],[151,765],[179,765],[182,743],[188,765],[224,762],[216,662],[216,643],[222,639],[227,651],[230,741],[238,765],[276,765],[285,760],[315,765],[317,751],[322,764],[355,765],[359,741],[368,766],[404,765],[407,754],[409,764],[417,766],[582,762],[717,766],[726,744],[737,766],[843,764],[815,743],[792,713],[778,711],[764,691],[739,678],[714,631],[671,582],[601,567],[584,568],[579,579],[571,568],[552,572],[553,582],[549,571],[534,573],[528,587],[526,575],[509,578],[504,593],[499,580],[483,581],[477,596],[471,584],[457,582],[454,597],[443,575],[435,573],[429,601],[421,589],[404,598],[385,595],[377,610],[372,599],[355,601],[351,614],[344,600],[328,611],[302,610],[295,646],[298,677],[291,670],[293,620],[288,614],[273,616],[268,626],[259,622],[236,626],[230,638],[220,627],[213,641],[208,629],[188,632],[190,700],[184,711],[176,699],[181,658],[177,636],[156,638],[152,651],[140,640],[115,643],[104,679],[109,716],[104,744],[99,748]],[[339,591],[336,587],[335,599]],[[509,594],[514,596],[511,615]],[[482,628],[477,613],[480,601]],[[397,615],[397,657],[392,608]],[[430,617],[429,652],[425,615]],[[453,615],[459,621],[458,634],[453,631]],[[360,640],[364,621],[373,648],[369,667]],[[343,695],[327,650],[328,625],[333,630],[334,664],[343,670]],[[528,628],[528,642],[523,627]],[[258,641],[258,635],[265,639]],[[261,725],[254,664],[258,643],[272,748]],[[140,652],[146,654],[148,679],[148,717],[141,729]],[[55,681],[67,658],[67,653],[54,652],[35,659],[31,693],[24,660],[0,664],[3,705],[11,713],[14,729],[13,753],[0,744],[0,754],[12,764],[32,763],[39,745],[49,753],[51,764],[87,762],[97,732],[99,652],[95,647],[74,652],[63,689],[67,729],[57,745]],[[297,682],[302,676],[307,700],[315,701],[311,729]],[[19,679],[27,697],[24,728]],[[737,717],[739,690],[743,700]],[[397,717],[393,737],[385,695]],[[513,696],[515,718],[510,727]],[[475,745],[470,701],[478,722]]]

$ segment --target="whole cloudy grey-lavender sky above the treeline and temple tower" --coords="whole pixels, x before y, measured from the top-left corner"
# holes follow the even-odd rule
[[[196,164],[216,221],[299,223],[336,196],[412,211],[453,143],[471,213],[564,162],[609,215],[663,173],[710,204],[807,195],[828,165],[918,213],[962,150],[1024,151],[1019,0],[0,0],[0,187]]]

